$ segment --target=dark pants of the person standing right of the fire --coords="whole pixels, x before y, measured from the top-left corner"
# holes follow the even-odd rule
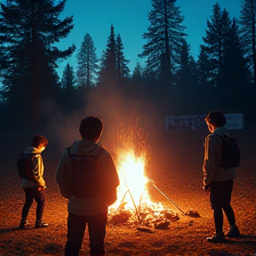
[[[225,180],[212,181],[210,185],[210,202],[213,210],[216,233],[223,231],[222,209],[227,216],[229,225],[236,224],[235,214],[230,204],[233,184],[233,180]]]

